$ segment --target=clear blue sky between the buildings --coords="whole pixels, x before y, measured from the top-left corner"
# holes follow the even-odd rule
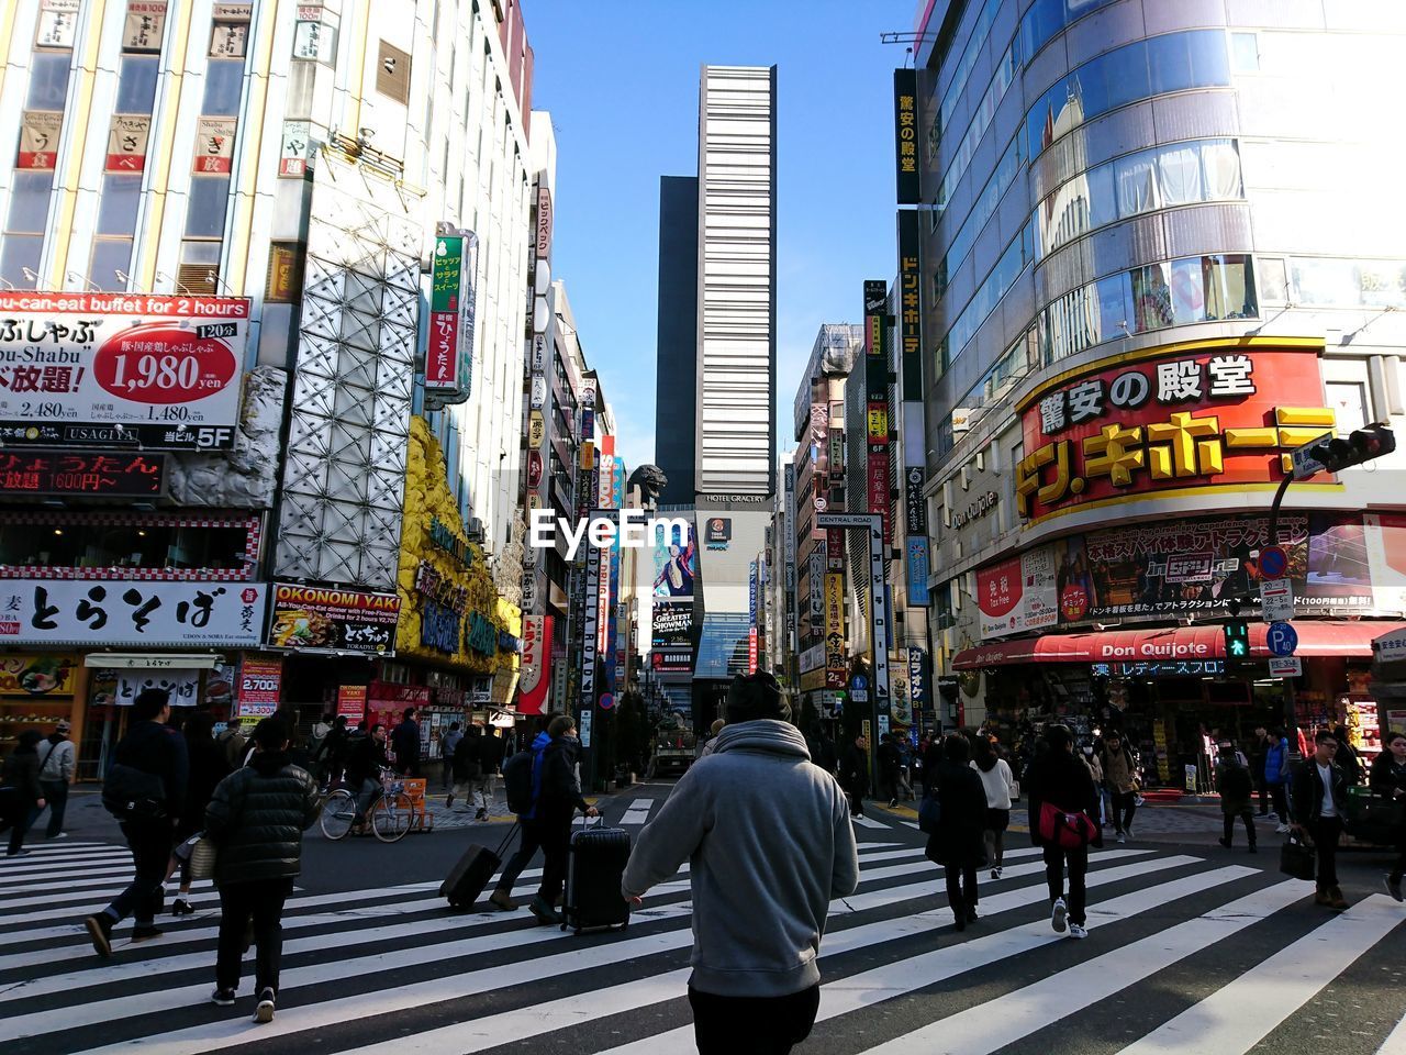
[[[893,69],[911,0],[523,0],[533,108],[557,131],[567,283],[630,467],[654,457],[659,176],[697,172],[699,68],[778,66],[778,435],[823,322],[894,264]]]

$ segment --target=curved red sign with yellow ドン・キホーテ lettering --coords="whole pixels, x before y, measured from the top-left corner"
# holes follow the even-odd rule
[[[1038,523],[1129,495],[1278,482],[1333,429],[1310,340],[1201,340],[1070,371],[1019,405],[1015,502]]]

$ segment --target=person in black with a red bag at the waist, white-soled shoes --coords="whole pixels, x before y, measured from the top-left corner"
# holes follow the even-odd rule
[[[1067,927],[1071,938],[1087,938],[1088,847],[1102,845],[1094,820],[1098,792],[1088,767],[1074,757],[1069,726],[1047,726],[1043,738],[1047,750],[1036,753],[1026,771],[1031,841],[1043,850],[1050,926],[1060,934]]]

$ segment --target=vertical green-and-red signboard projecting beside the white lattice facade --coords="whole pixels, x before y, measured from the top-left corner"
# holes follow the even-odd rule
[[[474,273],[478,238],[440,224],[434,239],[425,392],[430,409],[468,399],[474,362]]]

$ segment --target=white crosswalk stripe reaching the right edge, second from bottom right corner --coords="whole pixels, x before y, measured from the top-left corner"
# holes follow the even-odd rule
[[[1270,959],[1163,1023],[1119,1055],[1244,1052],[1384,940],[1400,910],[1382,896],[1368,897],[1316,927]]]

